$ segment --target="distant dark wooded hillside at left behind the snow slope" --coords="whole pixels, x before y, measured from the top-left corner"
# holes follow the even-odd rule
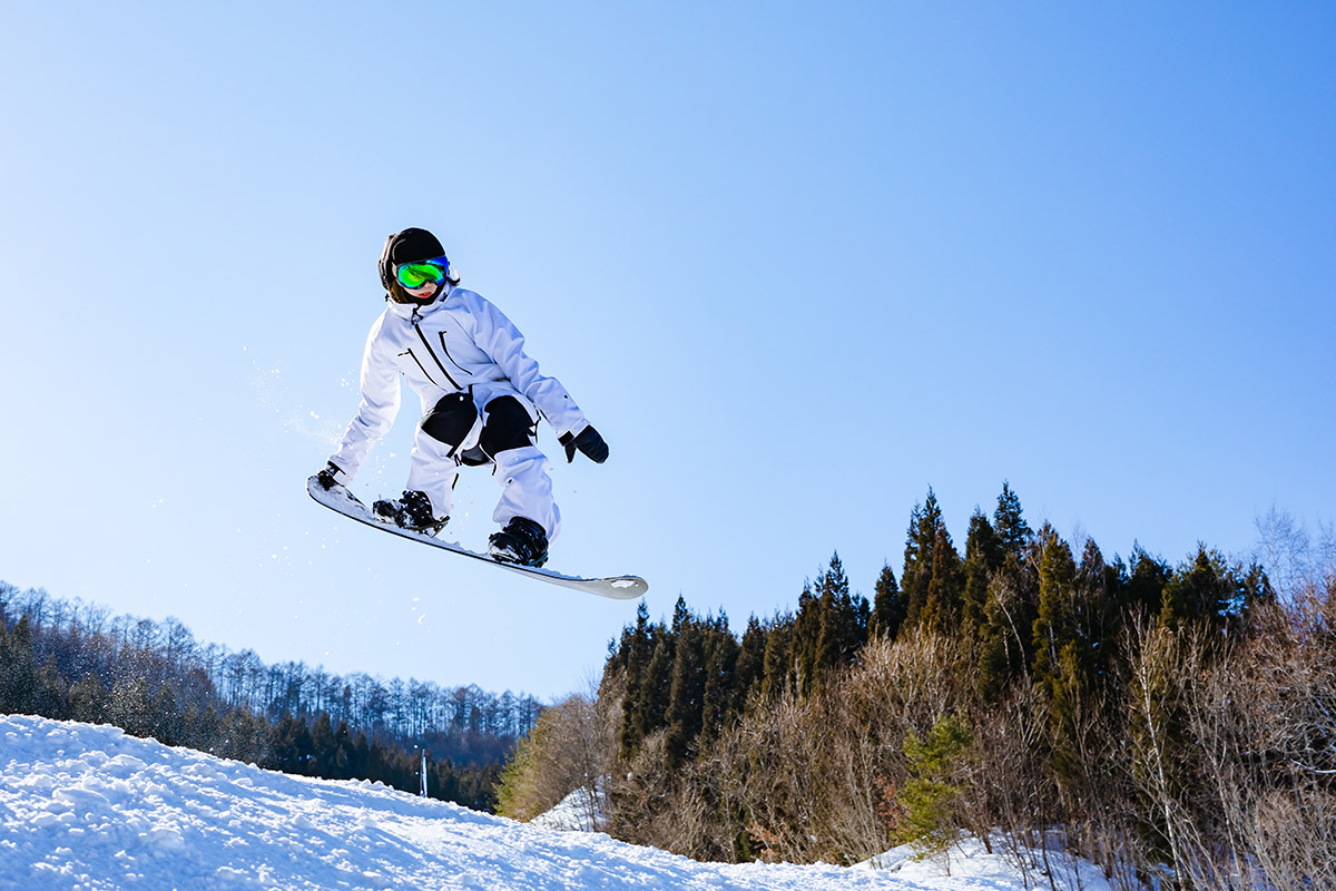
[[[261,767],[370,779],[490,810],[500,765],[541,712],[530,696],[200,644],[176,618],[111,617],[96,604],[0,582],[0,712],[110,723]]]

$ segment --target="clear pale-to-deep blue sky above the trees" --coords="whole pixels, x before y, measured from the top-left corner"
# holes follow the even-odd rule
[[[655,616],[740,628],[836,549],[871,594],[930,485],[958,545],[1003,480],[1108,557],[1332,518],[1329,3],[15,3],[0,83],[24,588],[339,672],[597,671],[633,604],[303,490],[405,226],[612,446],[556,466],[552,566]],[[496,494],[461,481],[465,544]]]

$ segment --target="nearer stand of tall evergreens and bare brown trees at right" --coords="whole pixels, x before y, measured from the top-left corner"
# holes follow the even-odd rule
[[[1205,545],[1106,560],[1033,529],[1009,485],[962,552],[929,490],[871,601],[836,554],[740,635],[641,604],[596,697],[521,743],[502,812],[597,777],[600,828],[703,859],[851,863],[967,830],[1035,875],[1057,839],[1116,887],[1336,887],[1336,561],[1303,564],[1281,520],[1276,589]],[[581,732],[580,764],[536,751]]]

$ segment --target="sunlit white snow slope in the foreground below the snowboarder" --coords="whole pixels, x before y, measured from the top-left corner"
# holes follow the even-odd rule
[[[696,863],[607,835],[564,832],[366,781],[262,771],[154,740],[0,716],[0,888],[1025,888],[966,843],[890,868]],[[1108,891],[1082,868],[1082,887]]]

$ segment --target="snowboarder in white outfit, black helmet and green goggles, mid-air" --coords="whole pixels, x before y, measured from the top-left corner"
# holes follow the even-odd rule
[[[494,560],[541,566],[561,529],[546,456],[534,445],[538,418],[574,460],[608,460],[608,443],[556,378],[525,355],[524,335],[481,295],[460,287],[445,248],[424,228],[385,239],[381,285],[389,302],[362,354],[362,402],[338,452],[318,474],[326,489],[347,485],[399,409],[402,374],[422,399],[407,488],[373,510],[403,529],[436,534],[450,518],[460,466],[493,465],[501,525],[488,540]]]

